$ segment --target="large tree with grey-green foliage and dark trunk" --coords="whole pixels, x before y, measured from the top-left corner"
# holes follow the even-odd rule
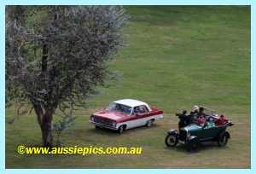
[[[50,148],[53,115],[64,115],[63,128],[74,106],[85,107],[96,86],[116,77],[108,61],[125,47],[129,15],[122,6],[9,6],[8,12],[6,107],[19,103],[19,116],[32,106]]]

